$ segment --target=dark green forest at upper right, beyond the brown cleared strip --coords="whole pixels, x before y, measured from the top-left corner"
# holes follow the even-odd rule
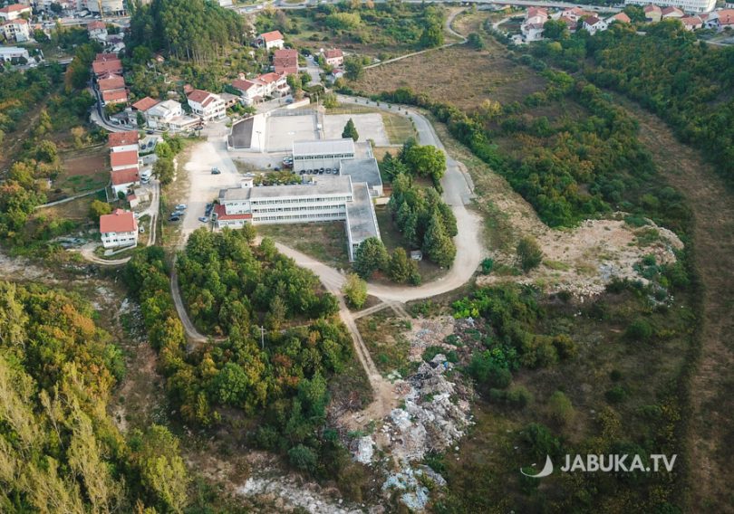
[[[698,42],[675,20],[648,26],[644,36],[613,24],[594,37],[557,39],[530,52],[640,102],[734,183],[734,49]]]

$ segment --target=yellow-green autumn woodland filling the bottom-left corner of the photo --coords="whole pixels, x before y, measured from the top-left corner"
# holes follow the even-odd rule
[[[188,475],[159,425],[106,413],[121,350],[75,295],[0,282],[0,510],[180,511]],[[149,511],[149,510],[146,510]]]

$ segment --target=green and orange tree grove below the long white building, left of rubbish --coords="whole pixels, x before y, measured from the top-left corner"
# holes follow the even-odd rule
[[[280,255],[271,240],[253,245],[254,238],[252,227],[200,229],[179,255],[189,309],[203,326],[227,335],[194,351],[187,352],[169,295],[164,253],[137,252],[127,282],[184,422],[227,424],[226,413],[239,409],[257,422],[245,434],[248,443],[283,452],[316,476],[339,476],[352,464],[324,427],[325,408],[328,380],[353,360],[351,338],[332,316],[333,295],[316,290],[314,274]]]

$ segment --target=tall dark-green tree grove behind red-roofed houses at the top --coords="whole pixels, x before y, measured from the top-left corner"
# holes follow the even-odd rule
[[[205,0],[153,0],[132,8],[130,49],[151,52],[193,62],[208,62],[245,43],[246,24],[235,11]]]

